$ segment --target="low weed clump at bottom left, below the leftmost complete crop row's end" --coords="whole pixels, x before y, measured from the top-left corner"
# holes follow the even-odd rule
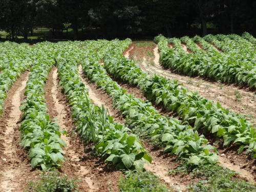
[[[31,181],[23,192],[78,192],[76,179],[60,176],[58,172],[44,173],[40,180]]]

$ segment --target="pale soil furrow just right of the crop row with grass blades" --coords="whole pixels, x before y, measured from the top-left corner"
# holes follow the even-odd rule
[[[95,88],[95,84],[89,83],[89,80],[84,77],[82,68],[79,66],[79,74],[82,78],[85,86],[89,90],[89,96],[94,101],[94,104],[100,105],[104,104],[104,107],[109,110],[110,115],[114,115],[114,119],[120,123],[124,122],[124,119],[119,115],[119,110],[115,110],[112,107],[112,99],[109,97],[107,93],[104,91],[101,91],[99,89]],[[139,93],[137,93],[139,94]],[[157,155],[154,155],[151,153],[151,148],[147,147],[148,152],[152,155],[152,158],[154,160],[154,163],[147,164],[144,166],[146,170],[152,171],[155,175],[159,176],[159,178],[166,183],[170,187],[174,187],[177,189],[184,188],[183,185],[180,185],[177,181],[178,179],[168,176],[168,170],[170,162],[163,160],[161,157],[157,157]],[[160,154],[160,151],[158,151],[158,155]],[[175,186],[176,184],[179,184],[180,186]]]

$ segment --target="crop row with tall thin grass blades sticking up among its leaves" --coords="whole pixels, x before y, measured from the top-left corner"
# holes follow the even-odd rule
[[[118,46],[119,41],[90,41],[84,49],[82,57],[90,59],[96,52],[107,50],[111,46]],[[100,45],[100,46],[99,46]],[[65,45],[63,45],[64,47]],[[131,130],[115,122],[104,106],[96,106],[89,98],[88,90],[84,87],[78,75],[77,63],[81,57],[77,46],[69,46],[62,50],[57,57],[60,85],[72,106],[72,117],[76,129],[85,143],[92,143],[93,150],[106,162],[115,165],[118,169],[143,169],[144,161],[151,162],[150,155],[139,141],[139,137],[131,134]],[[100,49],[101,47],[101,49]],[[77,49],[78,50],[78,49]]]

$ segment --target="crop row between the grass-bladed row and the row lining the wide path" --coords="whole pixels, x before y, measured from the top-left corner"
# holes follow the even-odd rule
[[[115,46],[107,52],[103,59],[104,65],[108,65],[109,55],[121,54],[130,43],[131,40],[127,39],[123,45]],[[203,135],[199,136],[197,131],[193,131],[188,125],[182,125],[177,119],[160,115],[151,102],[125,93],[126,90],[108,76],[103,65],[99,63],[97,53],[90,56],[81,61],[83,72],[110,95],[114,108],[121,111],[125,117],[125,124],[133,132],[165,146],[164,152],[188,159],[191,164],[218,161],[218,156],[211,152],[215,148],[207,144],[208,141]]]

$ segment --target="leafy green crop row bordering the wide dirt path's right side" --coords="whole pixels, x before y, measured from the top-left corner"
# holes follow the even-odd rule
[[[204,41],[202,38],[200,40]],[[167,40],[162,35],[155,37],[155,42],[157,42],[160,50],[161,65],[176,69],[190,76],[200,75],[216,81],[237,82],[239,84],[248,84],[251,88],[256,87],[256,66],[251,65],[251,63],[241,63],[234,60],[232,55],[223,55],[217,51],[212,52],[211,55],[207,52],[186,54],[177,46],[174,46],[174,49],[169,49],[168,41],[176,45],[180,43],[177,38]],[[208,43],[206,42],[206,44]]]

